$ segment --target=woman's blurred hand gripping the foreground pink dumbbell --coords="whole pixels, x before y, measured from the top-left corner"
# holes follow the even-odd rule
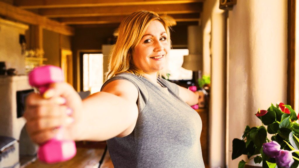
[[[63,128],[63,139],[75,140],[75,128],[82,114],[82,100],[67,83],[51,84],[43,95],[32,93],[25,102],[24,117],[30,138],[37,144],[54,138]],[[79,134],[80,135],[80,134]]]

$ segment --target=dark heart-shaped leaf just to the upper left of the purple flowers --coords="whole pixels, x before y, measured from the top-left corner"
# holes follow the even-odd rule
[[[260,150],[262,148],[263,143],[265,143],[266,141],[266,137],[267,137],[266,128],[264,126],[261,126],[257,130],[251,130],[249,135],[254,145],[257,147],[257,149]]]

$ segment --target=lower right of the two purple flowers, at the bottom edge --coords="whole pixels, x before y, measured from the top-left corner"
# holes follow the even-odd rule
[[[280,167],[289,168],[294,163],[292,153],[281,149],[279,155],[275,158],[276,164]]]

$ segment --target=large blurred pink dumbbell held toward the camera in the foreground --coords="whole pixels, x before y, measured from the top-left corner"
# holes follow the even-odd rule
[[[43,94],[51,83],[63,82],[61,68],[45,65],[34,68],[29,73],[29,84],[39,89]],[[60,127],[57,135],[39,146],[37,157],[46,163],[67,161],[76,155],[76,144],[73,140],[63,139],[64,128]]]

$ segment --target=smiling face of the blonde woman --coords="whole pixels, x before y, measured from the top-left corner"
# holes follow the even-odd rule
[[[156,73],[166,67],[166,55],[170,50],[166,30],[161,22],[149,23],[145,33],[132,53],[134,65],[144,73]]]

